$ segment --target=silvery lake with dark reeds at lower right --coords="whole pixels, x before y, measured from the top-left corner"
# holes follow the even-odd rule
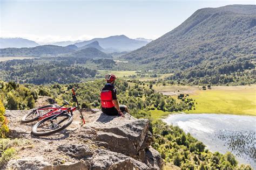
[[[256,116],[171,114],[163,119],[202,141],[211,152],[232,152],[239,163],[256,169]]]

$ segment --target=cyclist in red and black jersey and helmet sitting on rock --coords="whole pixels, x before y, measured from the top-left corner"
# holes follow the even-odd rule
[[[100,100],[102,101],[102,112],[107,115],[120,115],[124,117],[123,112],[127,112],[128,108],[126,105],[119,105],[117,100],[117,90],[114,88],[114,80],[116,76],[113,74],[107,74],[105,76],[106,84],[102,88],[100,93]]]

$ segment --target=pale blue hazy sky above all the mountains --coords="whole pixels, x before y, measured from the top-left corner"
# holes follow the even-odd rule
[[[46,43],[125,34],[156,39],[201,8],[255,1],[38,1],[1,2],[0,37]]]

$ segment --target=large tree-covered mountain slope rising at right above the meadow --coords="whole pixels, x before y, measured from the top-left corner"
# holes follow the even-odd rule
[[[220,75],[244,70],[252,74],[255,52],[256,6],[228,5],[197,10],[176,29],[123,59],[176,73],[171,79],[215,76],[218,81]]]

